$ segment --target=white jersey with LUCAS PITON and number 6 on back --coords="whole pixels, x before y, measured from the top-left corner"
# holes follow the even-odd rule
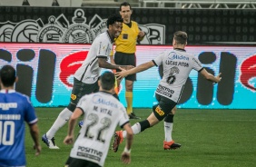
[[[192,54],[183,49],[167,50],[159,54],[153,63],[157,66],[162,64],[163,76],[155,93],[178,103],[182,89],[192,69],[201,72],[202,64]]]

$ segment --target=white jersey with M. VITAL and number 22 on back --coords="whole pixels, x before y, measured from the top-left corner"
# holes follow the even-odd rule
[[[70,156],[103,166],[116,126],[129,123],[126,110],[113,94],[105,92],[84,95],[76,107],[84,112],[84,124]]]

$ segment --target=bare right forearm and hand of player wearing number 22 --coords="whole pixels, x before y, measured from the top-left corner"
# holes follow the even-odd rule
[[[124,147],[121,160],[125,164],[129,164],[131,162],[131,149],[132,149],[132,143],[133,143],[133,130],[131,128],[130,123],[126,123],[123,126],[123,129],[126,131],[126,145]]]

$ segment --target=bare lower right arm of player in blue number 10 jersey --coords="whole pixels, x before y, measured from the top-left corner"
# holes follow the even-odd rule
[[[41,149],[42,149],[41,145],[39,143],[39,129],[38,129],[37,123],[30,124],[29,129],[30,129],[31,137],[34,141],[35,155],[37,156],[40,154]]]

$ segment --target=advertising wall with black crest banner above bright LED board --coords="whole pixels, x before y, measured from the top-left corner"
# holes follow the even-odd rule
[[[16,67],[15,89],[29,95],[34,106],[66,105],[75,70],[95,36],[106,30],[107,16],[117,12],[117,8],[1,6],[0,66]],[[147,33],[137,46],[137,64],[171,48],[174,31],[186,31],[187,51],[198,56],[210,73],[222,72],[222,82],[212,85],[192,72],[179,107],[255,109],[255,14],[250,9],[135,8],[133,19]],[[138,74],[134,107],[155,103],[153,93],[160,79],[157,67]],[[125,104],[123,96],[122,89]]]

